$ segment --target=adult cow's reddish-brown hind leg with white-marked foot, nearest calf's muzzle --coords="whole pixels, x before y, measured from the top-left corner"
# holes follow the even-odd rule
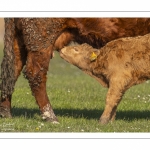
[[[32,94],[42,113],[42,118],[52,123],[58,123],[46,92],[46,75],[51,57],[52,47],[35,52],[30,51],[24,74],[29,81]]]

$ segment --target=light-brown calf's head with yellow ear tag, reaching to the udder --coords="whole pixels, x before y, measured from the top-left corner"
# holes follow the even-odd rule
[[[60,56],[67,62],[82,70],[88,70],[89,65],[97,59],[99,50],[88,44],[66,46],[60,51]]]

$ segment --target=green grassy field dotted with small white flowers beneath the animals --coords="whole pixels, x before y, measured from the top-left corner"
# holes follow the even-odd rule
[[[41,119],[28,82],[21,75],[12,97],[13,119],[1,118],[0,132],[149,132],[149,87],[147,81],[130,88],[117,109],[116,120],[100,125],[107,89],[56,52],[48,72],[47,93],[60,124]]]

